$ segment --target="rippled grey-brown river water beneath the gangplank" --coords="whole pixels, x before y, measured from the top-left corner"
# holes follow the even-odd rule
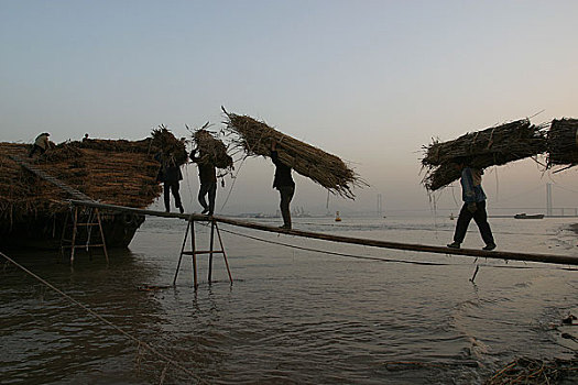
[[[578,255],[576,221],[490,219],[499,250],[564,255]],[[447,218],[295,220],[303,230],[437,245],[454,227]],[[209,229],[196,228],[206,250]],[[53,252],[6,252],[114,328],[2,264],[0,383],[482,384],[515,358],[568,359],[578,349],[560,337],[578,337],[560,326],[578,315],[578,273],[565,266],[220,228],[233,284],[217,254],[209,285],[204,255],[197,292],[189,256],[171,286],[186,229],[177,220],[149,218],[109,264],[99,253],[78,253],[70,267]],[[475,223],[464,246],[483,246]]]

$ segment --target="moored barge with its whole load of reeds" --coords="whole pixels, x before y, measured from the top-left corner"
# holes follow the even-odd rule
[[[34,157],[28,144],[0,143],[0,245],[58,249],[73,212],[72,191],[105,204],[150,206],[161,195],[154,160],[162,151],[160,136],[172,134],[157,130],[142,141],[68,141]],[[107,246],[126,248],[144,217],[102,212],[100,220]]]

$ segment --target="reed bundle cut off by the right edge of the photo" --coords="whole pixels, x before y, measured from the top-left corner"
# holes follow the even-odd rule
[[[548,131],[548,167],[578,164],[578,119],[554,120]]]

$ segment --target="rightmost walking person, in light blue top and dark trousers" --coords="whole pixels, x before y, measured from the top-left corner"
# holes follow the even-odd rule
[[[455,165],[461,172],[461,199],[464,206],[459,212],[458,222],[456,223],[456,232],[454,233],[454,242],[448,244],[448,248],[459,249],[468,226],[473,218],[478,229],[480,230],[481,237],[486,242],[486,246],[482,250],[494,250],[495,243],[493,241],[492,230],[490,223],[488,223],[488,213],[486,212],[486,194],[481,187],[481,174],[482,172],[477,168],[469,166],[468,158],[456,158]]]

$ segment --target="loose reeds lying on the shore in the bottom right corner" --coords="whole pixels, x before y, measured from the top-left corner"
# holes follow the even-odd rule
[[[498,371],[486,385],[504,384],[575,384],[578,381],[578,360],[542,361],[521,358]]]

